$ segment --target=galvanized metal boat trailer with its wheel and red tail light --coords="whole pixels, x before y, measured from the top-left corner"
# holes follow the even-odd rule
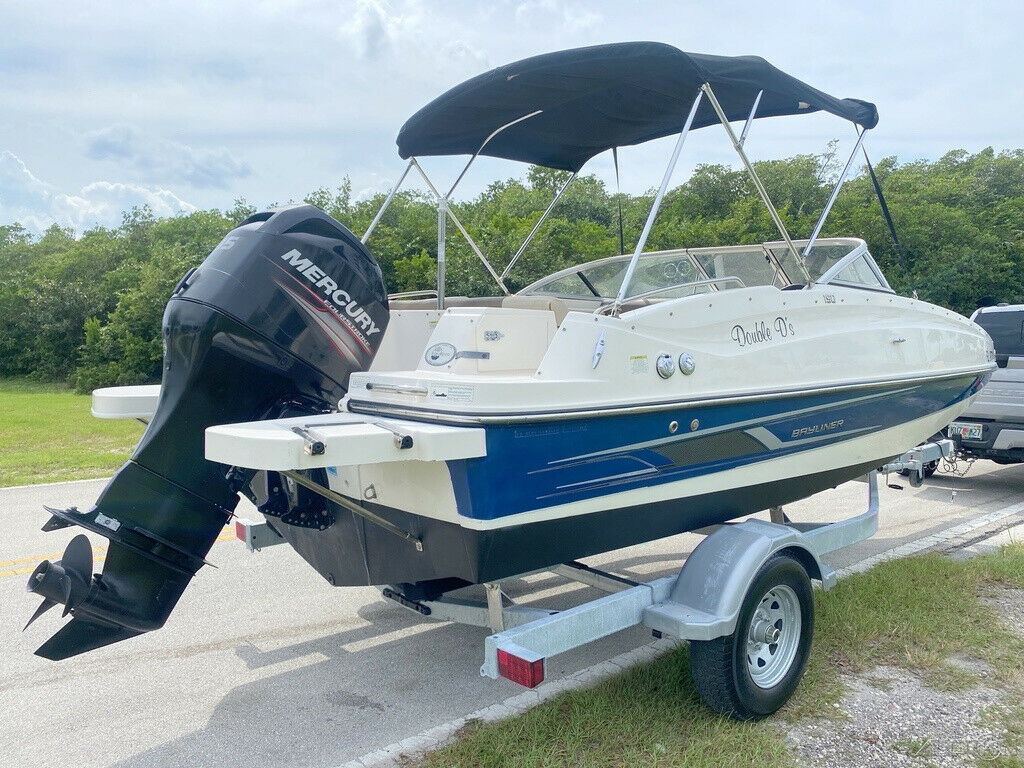
[[[425,618],[489,629],[480,674],[527,688],[544,681],[548,658],[622,630],[643,626],[655,638],[687,640],[703,699],[733,717],[760,718],[800,681],[813,636],[812,581],[826,590],[837,581],[824,556],[878,530],[879,474],[909,473],[916,485],[930,462],[952,452],[950,440],[938,440],[869,472],[860,478],[867,508],[838,522],[795,522],[776,507],[768,520],[696,531],[703,540],[674,575],[639,583],[582,562],[554,565],[545,571],[605,593],[566,610],[516,603],[501,583],[483,585],[484,600],[417,599],[399,585],[381,594]],[[285,541],[270,523],[245,519],[236,536],[253,552]]]

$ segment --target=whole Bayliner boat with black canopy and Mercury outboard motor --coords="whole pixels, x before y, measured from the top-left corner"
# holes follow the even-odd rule
[[[744,144],[759,119],[817,112],[856,140],[794,239]],[[49,510],[48,528],[111,544],[101,573],[84,537],[33,573],[33,620],[73,615],[37,653],[162,626],[239,494],[331,584],[416,606],[777,508],[922,442],[967,409],[994,351],[967,318],[897,295],[863,240],[820,237],[877,123],[873,104],[762,58],[659,43],[535,56],[440,95],[401,128],[407,165],[361,238],[310,206],[254,215],[175,290],[162,385],[96,393],[97,415],[152,421],[93,509]],[[645,252],[687,135],[712,126],[778,240]],[[672,135],[632,253],[508,291],[589,160]],[[446,194],[418,161],[442,155],[468,157]],[[569,172],[502,271],[452,203],[481,156]],[[413,171],[437,204],[437,288],[388,296],[369,245]],[[495,295],[446,295],[450,224]]]

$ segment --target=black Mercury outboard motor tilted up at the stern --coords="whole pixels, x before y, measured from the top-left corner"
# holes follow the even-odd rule
[[[44,530],[80,525],[110,540],[101,573],[78,536],[29,579],[73,615],[36,651],[60,659],[159,629],[231,517],[252,472],[204,458],[204,431],[326,413],[369,368],[387,327],[377,262],[312,206],[258,213],[178,284],[164,312],[153,421],[88,512],[48,509]],[[28,626],[28,625],[26,625]]]

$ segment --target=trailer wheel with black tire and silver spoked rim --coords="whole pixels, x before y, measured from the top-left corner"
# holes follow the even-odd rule
[[[705,702],[758,720],[786,702],[814,635],[814,597],[804,566],[776,555],[754,578],[731,635],[690,643],[693,682]]]

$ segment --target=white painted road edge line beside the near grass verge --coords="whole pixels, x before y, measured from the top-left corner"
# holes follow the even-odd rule
[[[938,534],[932,534],[931,536],[908,542],[907,544],[899,547],[894,547],[877,555],[871,555],[870,557],[858,560],[845,568],[840,568],[836,572],[841,579],[843,577],[850,575],[851,573],[860,573],[868,570],[879,563],[886,562],[887,560],[896,560],[901,557],[908,557],[909,555],[937,547],[940,544],[945,544],[953,539],[958,539],[959,537],[970,534],[973,530],[977,530],[978,528],[986,525],[991,525],[994,522],[998,522],[999,520],[1010,517],[1011,515],[1018,514],[1019,512],[1024,512],[1024,502],[1012,504],[1009,507],[1004,507],[1002,509],[997,509],[994,512],[989,512],[981,515],[980,517],[976,517],[970,522],[953,525],[940,530]],[[616,675],[624,670],[628,670],[634,665],[652,660],[663,653],[667,653],[669,650],[682,642],[684,641],[676,640],[674,638],[663,638],[660,640],[655,640],[653,643],[641,645],[639,648],[634,648],[633,650],[625,653],[620,653],[617,656],[612,656],[606,662],[601,662],[600,664],[580,670],[571,675],[566,675],[565,677],[552,680],[550,682],[541,683],[541,685],[537,688],[526,690],[515,696],[510,696],[500,703],[485,707],[482,710],[477,710],[476,712],[466,715],[465,717],[450,720],[446,723],[441,723],[433,728],[417,733],[414,736],[404,738],[401,741],[395,741],[394,743],[388,744],[380,750],[367,753],[360,758],[350,760],[347,763],[337,766],[337,768],[389,768],[390,766],[398,766],[400,765],[399,758],[402,755],[416,755],[441,746],[447,743],[452,736],[454,736],[460,728],[464,727],[470,721],[478,720],[486,723],[495,720],[504,720],[507,717],[518,715],[532,709],[537,705],[541,703],[541,701],[551,698],[562,691],[589,687],[601,680],[604,680],[605,678]]]

